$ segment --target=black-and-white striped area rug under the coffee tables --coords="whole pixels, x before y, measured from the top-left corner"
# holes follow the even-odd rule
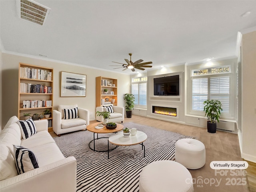
[[[89,148],[93,133],[80,131],[54,138],[65,157],[77,160],[77,192],[138,192],[140,172],[147,164],[158,160],[173,160],[175,142],[182,138],[192,138],[179,133],[154,127],[124,123],[124,127],[137,128],[147,134],[141,145],[118,146],[108,152],[94,152]],[[96,135],[96,134],[95,134]],[[99,134],[108,137],[110,134]],[[96,140],[96,150],[107,150],[108,140]],[[93,142],[90,144],[93,148]],[[110,144],[110,148],[115,147]]]

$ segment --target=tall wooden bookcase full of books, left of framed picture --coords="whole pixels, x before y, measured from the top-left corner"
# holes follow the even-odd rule
[[[53,69],[30,64],[19,64],[18,78],[18,118],[24,120],[24,113],[44,114],[52,112]],[[52,131],[52,116],[48,120],[48,131]]]

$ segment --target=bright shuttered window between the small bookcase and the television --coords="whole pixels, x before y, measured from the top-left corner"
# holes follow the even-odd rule
[[[146,108],[147,106],[147,77],[132,79],[132,94],[135,97],[134,106]]]

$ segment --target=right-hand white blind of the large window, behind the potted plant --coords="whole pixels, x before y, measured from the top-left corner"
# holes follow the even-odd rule
[[[229,112],[229,76],[210,78],[210,99],[219,100],[223,112]]]

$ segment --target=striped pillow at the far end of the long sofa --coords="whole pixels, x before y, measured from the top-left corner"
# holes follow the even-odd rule
[[[32,118],[29,118],[27,120],[19,120],[17,123],[20,126],[23,139],[27,139],[30,136],[36,134],[36,126]]]

